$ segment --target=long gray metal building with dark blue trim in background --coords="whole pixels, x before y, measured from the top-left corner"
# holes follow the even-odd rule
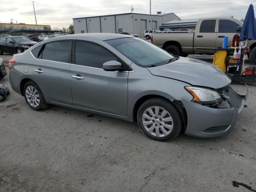
[[[73,23],[75,34],[133,32],[141,37],[146,29],[159,29],[163,23],[179,19],[174,13],[156,15],[124,13],[73,18]]]

